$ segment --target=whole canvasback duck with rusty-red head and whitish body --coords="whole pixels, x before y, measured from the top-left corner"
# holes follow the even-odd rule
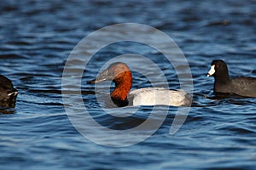
[[[113,103],[119,107],[126,105],[190,105],[189,94],[183,90],[169,90],[166,88],[140,88],[130,92],[132,76],[125,63],[116,62],[88,83],[113,81],[115,88],[110,94]],[[129,93],[130,92],[130,93]]]

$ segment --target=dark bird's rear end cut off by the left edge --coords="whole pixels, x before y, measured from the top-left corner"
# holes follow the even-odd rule
[[[9,78],[0,75],[0,106],[14,107],[18,91]]]

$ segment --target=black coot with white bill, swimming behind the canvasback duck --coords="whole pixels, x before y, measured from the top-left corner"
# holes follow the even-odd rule
[[[244,97],[256,97],[256,78],[237,77],[230,79],[229,70],[224,60],[212,60],[207,77],[213,76],[214,93],[237,94]]]

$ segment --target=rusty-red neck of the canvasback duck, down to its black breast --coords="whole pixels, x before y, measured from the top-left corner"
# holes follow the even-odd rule
[[[115,83],[115,88],[113,92],[110,94],[113,103],[119,107],[123,107],[129,104],[127,96],[131,89],[131,73],[127,73],[124,77],[120,77],[119,79],[115,79],[113,81]]]

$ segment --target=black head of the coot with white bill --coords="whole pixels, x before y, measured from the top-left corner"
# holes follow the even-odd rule
[[[208,72],[207,77],[211,76],[215,79],[229,80],[229,70],[224,60],[212,60],[211,70]]]

